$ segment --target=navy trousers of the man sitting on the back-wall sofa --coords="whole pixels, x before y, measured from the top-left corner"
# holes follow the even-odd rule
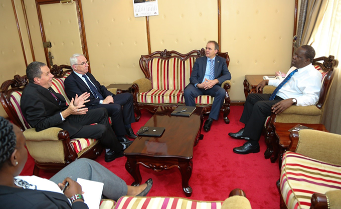
[[[222,108],[225,99],[225,89],[216,84],[212,88],[205,90],[197,88],[193,84],[188,84],[184,90],[185,103],[187,106],[196,106],[195,98],[199,95],[211,95],[214,97],[210,117],[217,120],[219,118],[220,108]]]

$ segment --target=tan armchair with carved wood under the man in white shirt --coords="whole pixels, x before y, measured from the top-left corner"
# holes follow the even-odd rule
[[[265,158],[269,158],[276,147],[272,146],[272,141],[275,139],[275,129],[273,127],[273,122],[297,122],[297,123],[320,123],[322,119],[323,104],[325,103],[328,95],[329,88],[331,86],[332,79],[334,77],[334,69],[337,67],[338,60],[334,59],[333,55],[328,57],[322,56],[314,58],[312,64],[316,70],[320,71],[322,74],[321,92],[319,100],[315,105],[310,106],[290,106],[285,109],[280,114],[272,113],[269,119],[265,123],[265,143],[267,144],[267,149],[264,153]],[[265,86],[263,88],[263,93],[272,93],[275,89],[274,86]],[[278,154],[274,154],[271,161],[274,162],[277,159]]]

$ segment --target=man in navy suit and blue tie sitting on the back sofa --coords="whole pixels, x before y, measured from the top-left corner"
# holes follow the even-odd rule
[[[214,96],[209,118],[205,121],[204,130],[209,131],[213,119],[218,120],[219,111],[224,103],[225,89],[221,84],[231,79],[231,73],[227,68],[226,60],[216,56],[219,45],[210,40],[206,44],[206,56],[199,57],[194,63],[190,77],[190,84],[184,90],[185,103],[187,106],[195,106],[195,98],[199,95]]]

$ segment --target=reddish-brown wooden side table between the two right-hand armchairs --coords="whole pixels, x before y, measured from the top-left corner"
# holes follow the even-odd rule
[[[273,146],[273,156],[271,157],[271,162],[275,162],[278,158],[279,168],[282,165],[282,158],[284,152],[287,150],[287,148],[290,145],[290,138],[288,131],[292,127],[294,127],[297,124],[301,124],[307,127],[312,127],[314,130],[321,130],[328,132],[328,130],[325,128],[323,124],[309,124],[309,123],[283,123],[283,122],[274,122],[274,131],[275,136],[272,137],[271,143]]]

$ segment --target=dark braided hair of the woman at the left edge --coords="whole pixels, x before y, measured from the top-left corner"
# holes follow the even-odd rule
[[[0,116],[0,168],[8,160],[17,144],[13,125],[4,117]]]

